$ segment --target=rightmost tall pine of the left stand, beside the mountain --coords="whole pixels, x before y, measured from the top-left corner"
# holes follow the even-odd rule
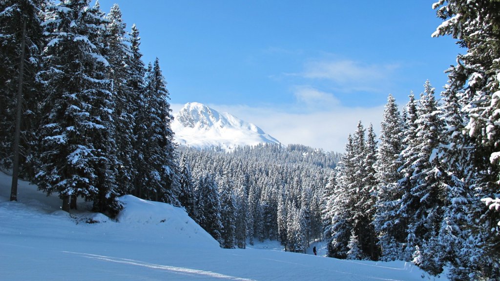
[[[170,128],[173,116],[158,58],[153,65],[149,63],[145,84],[136,116],[140,161],[136,184],[143,198],[178,205],[179,168]]]

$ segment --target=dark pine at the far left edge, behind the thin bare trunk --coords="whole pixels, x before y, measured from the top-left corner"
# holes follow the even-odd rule
[[[0,2],[0,166],[11,168],[14,151],[17,93],[21,94],[19,141],[19,174],[34,177],[37,154],[36,129],[39,103],[43,99],[35,74],[43,44],[41,19],[42,0],[4,0]],[[23,22],[24,60],[22,87],[19,88]]]

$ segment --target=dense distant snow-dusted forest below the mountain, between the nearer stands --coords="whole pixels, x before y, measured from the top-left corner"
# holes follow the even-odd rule
[[[231,153],[182,146],[179,153],[179,200],[222,247],[275,239],[304,252],[323,238],[323,187],[339,154],[280,144]]]

